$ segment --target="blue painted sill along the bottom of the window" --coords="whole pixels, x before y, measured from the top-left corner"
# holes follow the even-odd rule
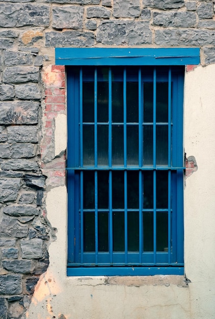
[[[67,276],[184,275],[183,267],[71,267]]]

